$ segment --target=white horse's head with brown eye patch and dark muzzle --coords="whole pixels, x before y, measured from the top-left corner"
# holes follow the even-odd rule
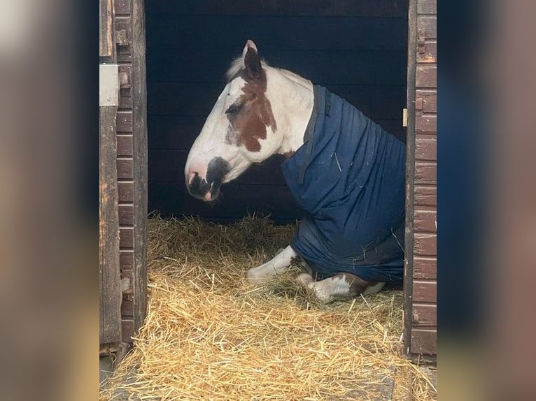
[[[220,186],[281,148],[267,69],[253,41],[227,71],[227,84],[190,149],[185,181],[192,196],[218,197]]]

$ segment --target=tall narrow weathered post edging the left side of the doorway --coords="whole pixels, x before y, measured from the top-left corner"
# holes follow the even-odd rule
[[[145,1],[132,0],[132,98],[134,135],[134,327],[147,314],[147,78]]]

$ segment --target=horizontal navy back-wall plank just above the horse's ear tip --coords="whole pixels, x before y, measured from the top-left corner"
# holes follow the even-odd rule
[[[241,54],[249,38],[262,54],[268,50],[405,50],[407,19],[171,14],[147,17],[150,56],[162,51],[208,48],[210,54],[224,54],[229,60]]]

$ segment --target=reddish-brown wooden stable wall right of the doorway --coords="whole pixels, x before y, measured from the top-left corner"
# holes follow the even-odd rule
[[[409,3],[405,352],[437,353],[437,1]]]

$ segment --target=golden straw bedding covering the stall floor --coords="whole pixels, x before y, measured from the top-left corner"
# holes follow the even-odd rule
[[[148,315],[101,400],[388,400],[378,391],[393,378],[393,399],[435,399],[400,356],[402,291],[318,305],[295,285],[297,267],[246,282],[295,225],[153,216],[148,227]]]

